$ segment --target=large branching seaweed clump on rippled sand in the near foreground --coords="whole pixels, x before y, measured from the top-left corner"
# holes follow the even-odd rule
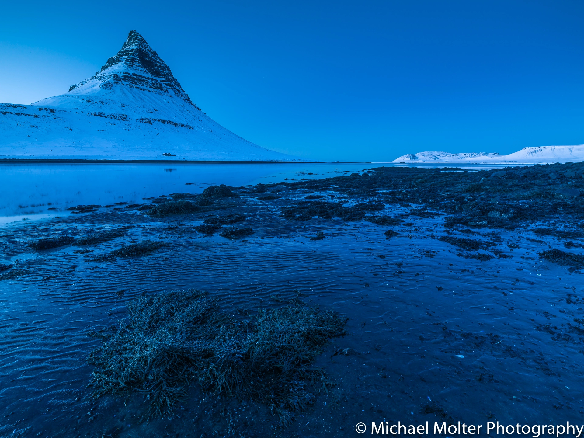
[[[90,333],[102,345],[88,357],[93,398],[145,395],[148,416],[172,415],[198,381],[204,391],[266,404],[280,424],[311,404],[308,384],[326,387],[312,367],[329,339],[345,334],[347,318],[308,307],[262,309],[237,321],[198,290],[167,291],[128,301],[128,321]]]

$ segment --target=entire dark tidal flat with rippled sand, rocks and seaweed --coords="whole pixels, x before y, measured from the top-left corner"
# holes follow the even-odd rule
[[[583,176],[371,168],[8,224],[0,436],[578,424]]]

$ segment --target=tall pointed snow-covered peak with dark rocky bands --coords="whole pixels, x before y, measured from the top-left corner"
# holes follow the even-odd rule
[[[99,72],[30,105],[0,103],[0,159],[303,161],[201,111],[135,30]]]

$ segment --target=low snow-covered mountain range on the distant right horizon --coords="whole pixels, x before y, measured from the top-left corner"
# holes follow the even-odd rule
[[[565,163],[584,161],[584,144],[575,146],[541,146],[523,148],[509,155],[496,152],[468,152],[451,154],[450,152],[418,152],[406,154],[394,159],[393,163],[475,163],[475,164],[536,164]]]

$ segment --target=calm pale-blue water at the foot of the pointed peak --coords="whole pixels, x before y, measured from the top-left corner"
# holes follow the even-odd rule
[[[239,187],[286,179],[319,179],[392,165],[394,164],[0,164],[0,187],[3,187],[0,194],[0,224],[62,216],[68,214],[64,211],[66,208],[78,205],[142,203],[142,198],[160,194],[200,193],[205,187],[214,184]],[[478,170],[495,166],[463,167]]]

